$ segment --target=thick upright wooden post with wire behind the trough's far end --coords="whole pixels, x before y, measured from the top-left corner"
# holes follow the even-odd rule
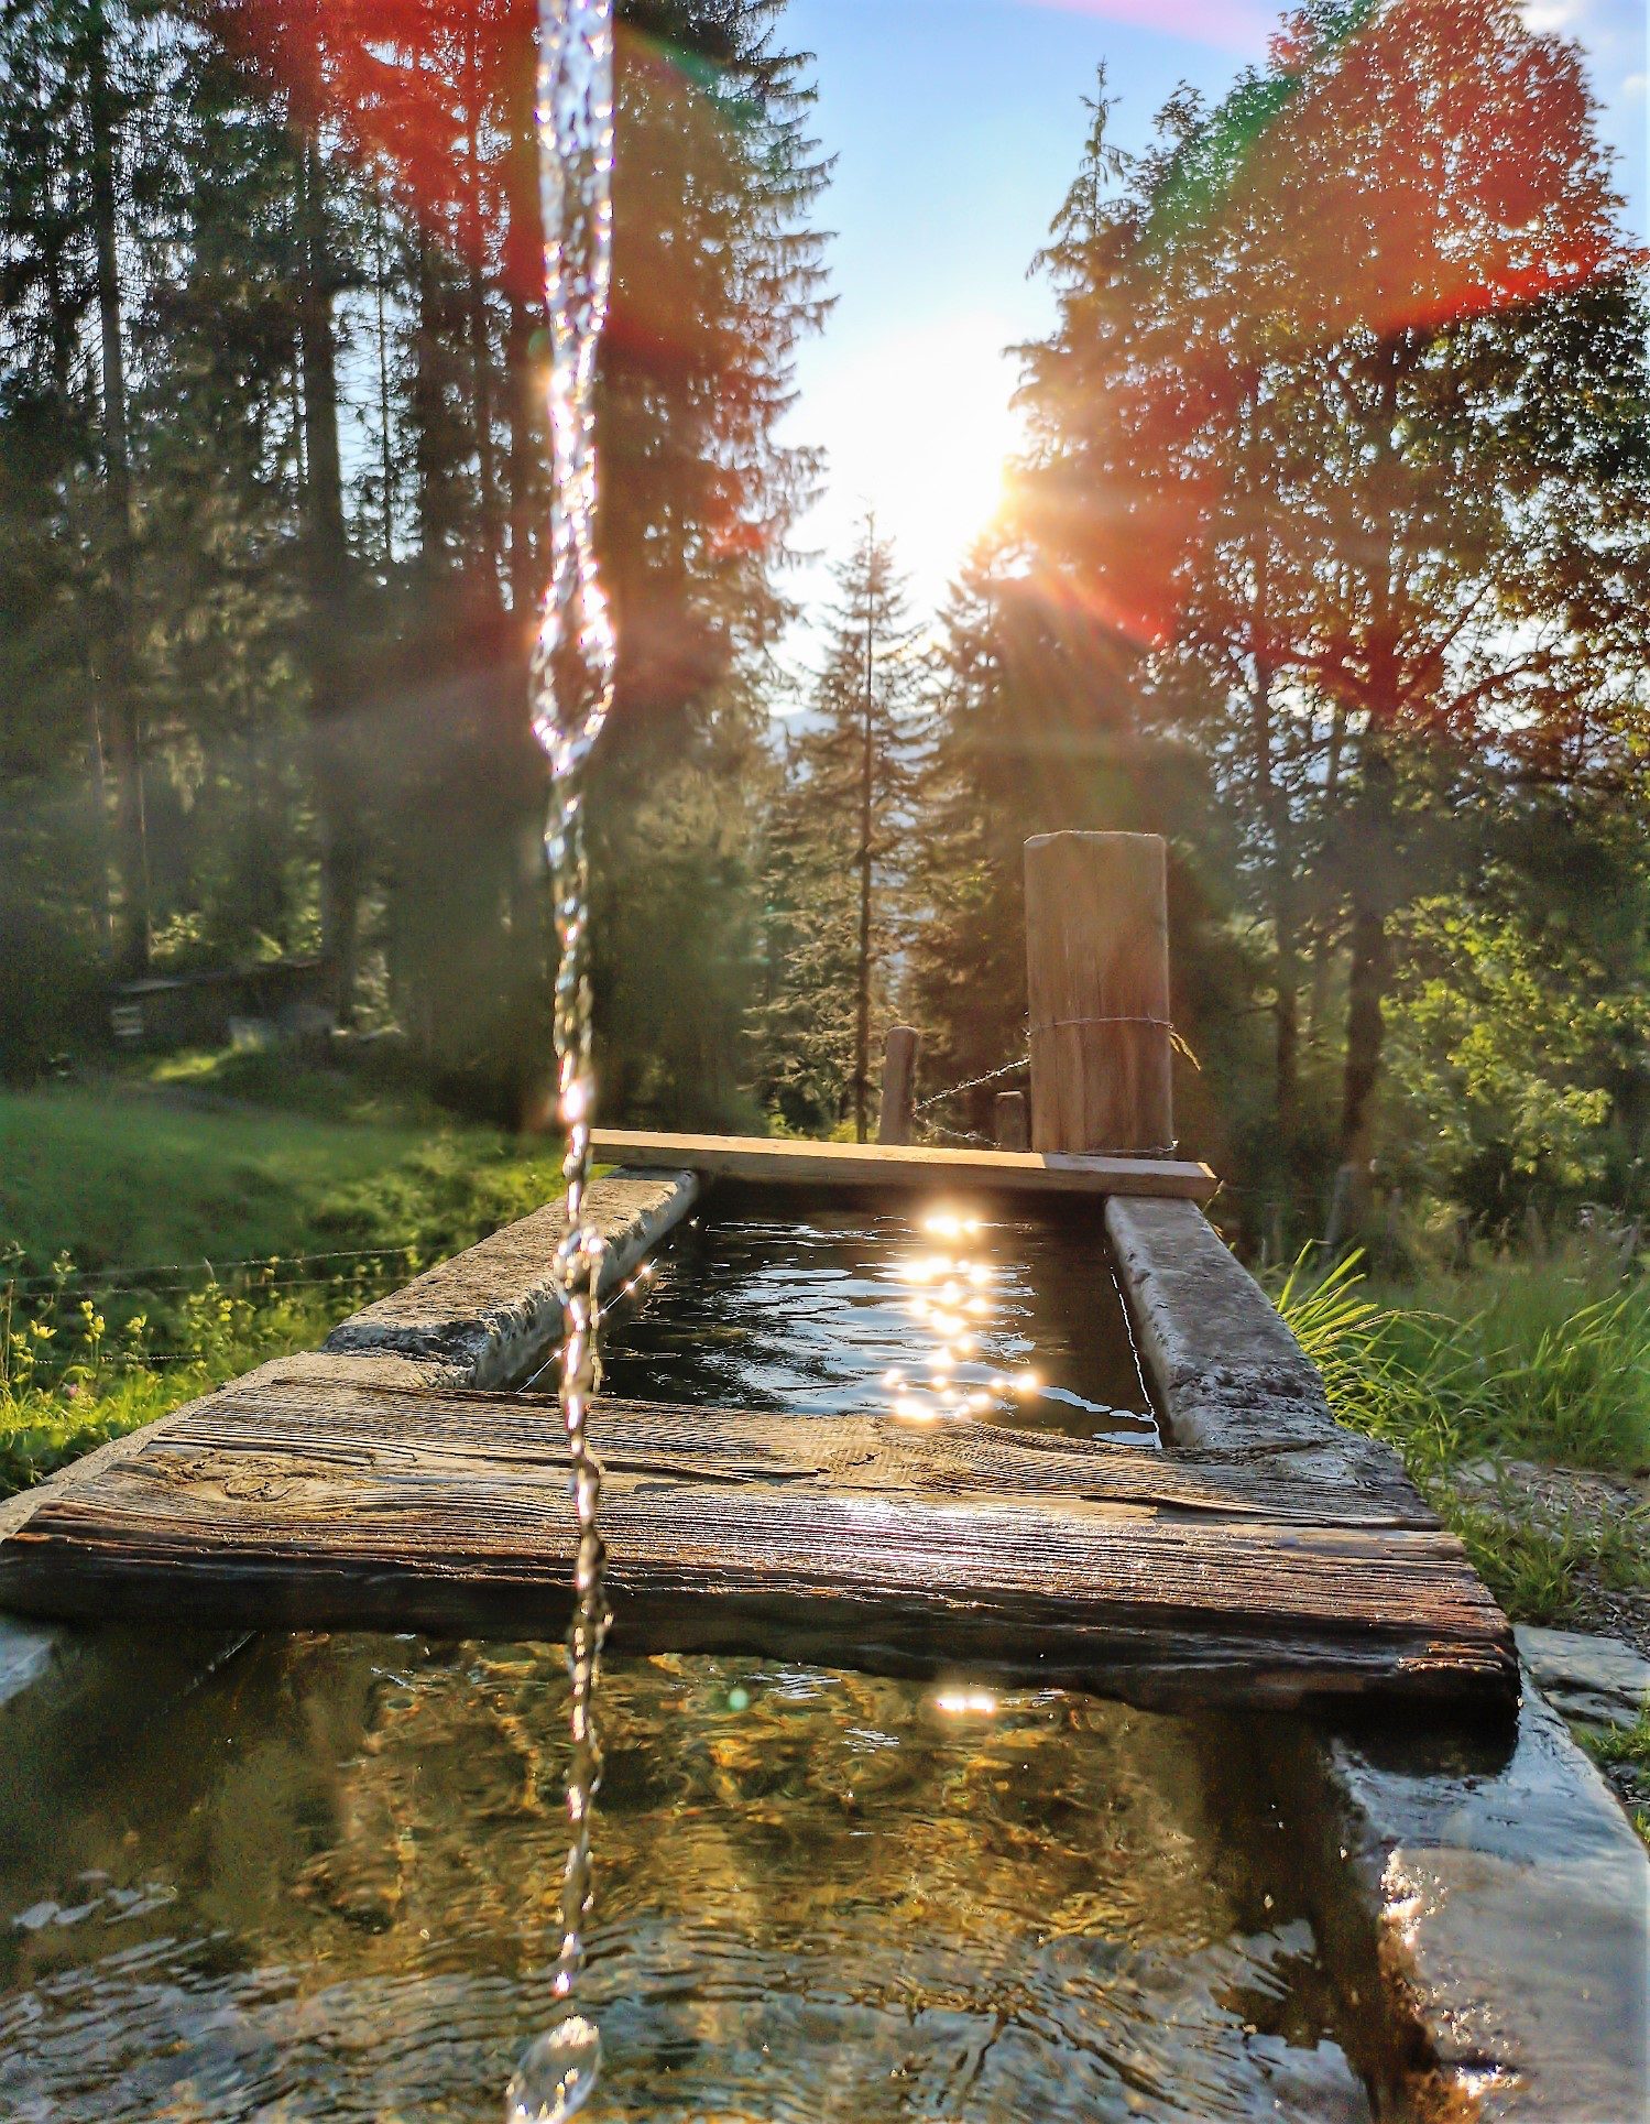
[[[1026,843],[1032,1149],[1174,1143],[1168,850],[1155,833]]]

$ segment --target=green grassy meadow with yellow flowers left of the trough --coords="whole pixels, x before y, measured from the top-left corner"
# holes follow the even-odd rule
[[[270,1058],[0,1094],[0,1495],[561,1192],[554,1143]]]

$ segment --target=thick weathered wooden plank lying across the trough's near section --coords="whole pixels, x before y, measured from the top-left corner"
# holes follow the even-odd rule
[[[1510,1631],[1402,1478],[1323,1514],[1244,1461],[983,1425],[607,1404],[616,1642],[966,1667],[1151,1703],[1516,1701]],[[28,1614],[548,1635],[573,1525],[552,1404],[231,1387],[0,1544]],[[1312,1514],[1319,1517],[1312,1517]]]

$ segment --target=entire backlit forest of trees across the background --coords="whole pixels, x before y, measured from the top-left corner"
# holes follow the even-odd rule
[[[898,1020],[990,1132],[1021,843],[1155,830],[1249,1253],[1338,1175],[1348,1232],[1650,1213],[1650,316],[1580,53],[1310,0],[1145,153],[1102,74],[1000,520],[941,612],[875,518],[801,612],[809,57],[620,21],[603,1115],[864,1134]],[[531,0],[6,0],[0,217],[0,1075],[299,962],[333,1062],[542,1126]]]

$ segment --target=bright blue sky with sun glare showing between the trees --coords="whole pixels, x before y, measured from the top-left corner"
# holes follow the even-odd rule
[[[1266,55],[1278,13],[1253,0],[790,0],[779,36],[815,55],[815,134],[837,157],[820,204],[837,308],[801,350],[788,427],[828,452],[826,493],[798,531],[822,559],[790,580],[811,610],[866,510],[896,542],[919,618],[990,518],[1017,433],[1007,348],[1053,323],[1028,268],[1077,174],[1096,68],[1117,98],[1113,138],[1142,147],[1176,83],[1221,96]],[[1523,0],[1523,13],[1582,45],[1644,238],[1644,0]]]

